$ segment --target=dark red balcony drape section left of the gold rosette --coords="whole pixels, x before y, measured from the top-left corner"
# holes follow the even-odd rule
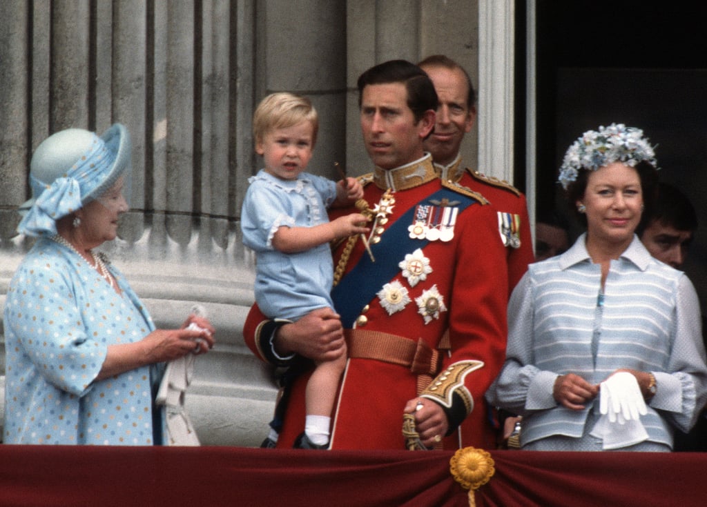
[[[468,505],[450,453],[0,446],[0,506]]]

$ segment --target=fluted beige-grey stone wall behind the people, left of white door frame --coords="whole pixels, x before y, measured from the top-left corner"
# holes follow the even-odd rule
[[[126,124],[132,211],[103,249],[158,325],[177,326],[194,302],[206,306],[218,345],[197,361],[187,409],[203,443],[257,446],[276,388],[242,337],[253,260],[238,218],[259,167],[255,104],[277,90],[308,95],[321,117],[312,172],[335,177],[334,162],[368,172],[358,74],[441,52],[476,84],[477,10],[463,0],[4,0],[0,304],[29,246],[14,229],[33,149],[70,126]],[[475,136],[464,147],[470,165]]]

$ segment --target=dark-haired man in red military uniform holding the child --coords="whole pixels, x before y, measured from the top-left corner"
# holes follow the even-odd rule
[[[244,327],[264,361],[304,364],[288,386],[277,446],[291,447],[303,431],[307,362],[336,357],[345,339],[349,362],[330,448],[404,449],[403,414],[416,424],[418,439],[410,441],[426,448],[440,448],[464,419],[473,430],[468,445],[492,448],[483,397],[505,357],[508,299],[496,212],[479,194],[440,179],[424,153],[437,95],[419,67],[374,66],[358,91],[375,167],[362,177],[365,202],[357,207],[370,216],[371,232],[334,252],[338,315],[315,310],[287,323],[264,319],[254,306]]]

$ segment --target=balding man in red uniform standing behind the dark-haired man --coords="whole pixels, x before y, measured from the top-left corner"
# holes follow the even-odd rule
[[[464,168],[459,153],[464,134],[477,117],[476,93],[464,68],[444,55],[428,56],[419,67],[435,85],[439,98],[436,125],[424,143],[440,177],[481,193],[498,215],[498,233],[506,245],[508,296],[534,261],[530,218],[525,196],[506,181]]]

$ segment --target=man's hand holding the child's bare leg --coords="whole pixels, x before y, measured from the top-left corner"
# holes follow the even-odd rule
[[[300,354],[315,362],[339,358],[346,352],[345,345],[341,317],[330,308],[310,311],[275,333],[275,350],[279,355]]]

